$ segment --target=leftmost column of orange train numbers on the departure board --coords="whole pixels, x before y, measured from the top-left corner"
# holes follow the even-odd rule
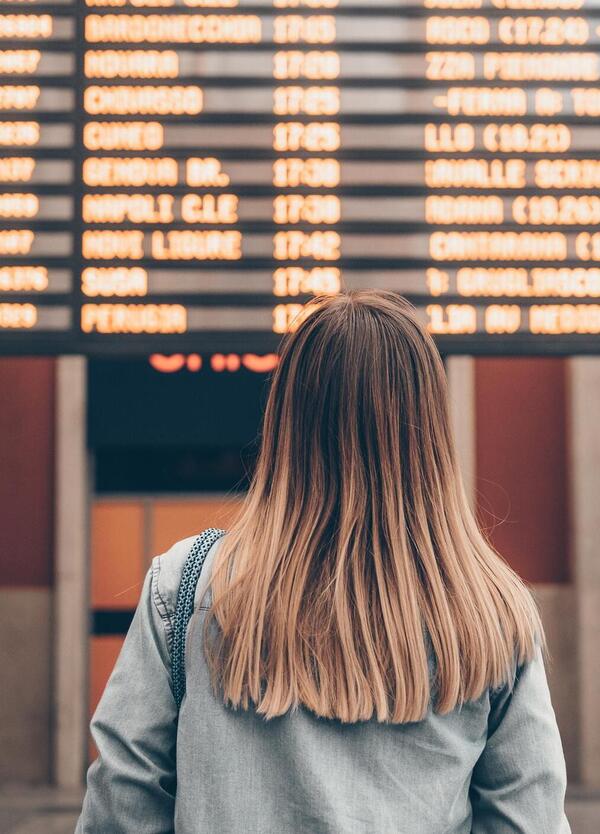
[[[75,9],[0,3],[0,332],[73,341]],[[21,344],[21,349],[23,345]]]

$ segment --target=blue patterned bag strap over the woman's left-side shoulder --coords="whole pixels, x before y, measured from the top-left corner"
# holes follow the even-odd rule
[[[178,710],[185,695],[185,637],[188,623],[194,613],[196,586],[208,551],[221,536],[225,535],[225,532],[225,530],[220,530],[217,527],[209,527],[200,533],[190,548],[181,572],[177,603],[173,616],[173,643],[171,652],[173,695]]]

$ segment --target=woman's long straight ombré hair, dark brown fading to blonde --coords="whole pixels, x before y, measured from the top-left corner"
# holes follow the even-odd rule
[[[527,586],[469,508],[440,355],[392,292],[320,296],[297,322],[215,555],[214,690],[265,718],[449,712],[546,644]]]

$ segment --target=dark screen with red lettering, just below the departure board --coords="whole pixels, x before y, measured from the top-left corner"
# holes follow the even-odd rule
[[[269,376],[235,355],[92,358],[87,441],[95,493],[246,489]]]

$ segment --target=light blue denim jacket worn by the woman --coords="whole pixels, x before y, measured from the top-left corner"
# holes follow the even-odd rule
[[[206,580],[179,720],[170,641],[193,537],[156,556],[91,721],[99,750],[76,834],[569,834],[565,762],[543,660],[514,687],[423,721],[344,725],[304,709],[226,708],[202,653]]]

